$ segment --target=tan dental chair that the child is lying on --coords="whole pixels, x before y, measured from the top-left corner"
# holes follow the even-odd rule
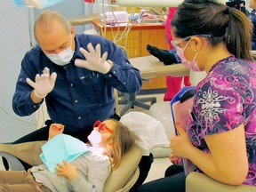
[[[7,159],[9,167],[13,171],[24,170],[20,160],[31,166],[42,164],[39,154],[41,147],[46,141],[34,141],[20,144],[0,144],[0,156]],[[126,153],[118,168],[110,172],[105,182],[103,192],[129,191],[139,178],[140,170],[138,164],[142,156],[138,147],[131,148]]]

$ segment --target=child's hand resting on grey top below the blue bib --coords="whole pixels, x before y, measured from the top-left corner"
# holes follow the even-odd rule
[[[69,164],[67,161],[63,160],[63,164],[57,164],[55,167],[58,176],[64,176],[69,181],[74,180],[77,175],[77,169],[75,164]]]

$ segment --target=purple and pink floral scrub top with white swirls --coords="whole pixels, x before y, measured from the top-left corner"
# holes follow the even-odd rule
[[[196,86],[188,136],[210,153],[204,136],[244,124],[249,172],[244,184],[256,186],[256,63],[234,56],[217,62]]]

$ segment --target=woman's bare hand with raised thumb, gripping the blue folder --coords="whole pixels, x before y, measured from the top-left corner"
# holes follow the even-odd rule
[[[171,148],[172,152],[176,156],[181,156],[188,158],[188,153],[190,148],[195,148],[191,141],[188,138],[187,132],[180,126],[179,123],[176,123],[176,129],[179,132],[179,135],[176,136],[175,133],[171,137]]]

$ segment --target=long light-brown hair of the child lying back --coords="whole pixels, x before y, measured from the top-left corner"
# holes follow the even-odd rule
[[[122,156],[135,146],[137,136],[131,132],[124,124],[116,119],[110,119],[115,122],[112,136],[107,140],[106,152],[108,154],[112,169],[116,169],[120,164]]]

